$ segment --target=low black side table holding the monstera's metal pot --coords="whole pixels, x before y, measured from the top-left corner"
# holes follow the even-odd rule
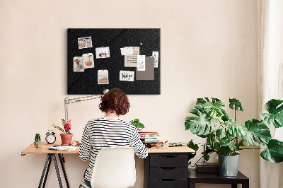
[[[189,184],[190,188],[195,188],[196,183],[202,184],[231,184],[232,188],[236,188],[237,184],[242,184],[243,188],[249,187],[248,177],[238,171],[238,176],[224,177],[219,173],[198,173],[196,169],[189,169]]]

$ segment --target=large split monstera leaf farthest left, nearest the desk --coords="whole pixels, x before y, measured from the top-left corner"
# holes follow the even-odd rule
[[[189,111],[197,117],[185,118],[185,129],[197,134],[198,136],[207,135],[215,131],[217,119],[210,117],[202,105],[196,105],[195,108]]]

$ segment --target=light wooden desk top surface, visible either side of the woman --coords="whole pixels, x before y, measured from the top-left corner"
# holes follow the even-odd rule
[[[49,150],[48,148],[51,148],[53,146],[61,146],[61,142],[55,142],[52,144],[47,144],[46,141],[43,142],[41,148],[35,148],[33,143],[28,146],[28,148],[25,148],[24,151],[21,152],[21,155],[24,156],[26,154],[47,154],[47,153],[79,153],[79,150],[74,151],[54,151]],[[187,146],[178,146],[178,147],[169,147],[169,148],[147,148],[149,153],[194,153],[195,151],[191,148],[188,148]]]

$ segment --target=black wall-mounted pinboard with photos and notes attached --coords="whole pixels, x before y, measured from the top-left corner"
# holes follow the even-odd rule
[[[68,94],[161,93],[160,29],[68,29]]]

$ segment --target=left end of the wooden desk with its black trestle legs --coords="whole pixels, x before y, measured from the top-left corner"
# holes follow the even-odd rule
[[[43,177],[45,177],[45,180],[43,182],[42,187],[45,187],[45,183],[46,183],[46,180],[47,180],[47,175],[48,175],[48,172],[49,172],[49,169],[50,169],[52,159],[53,159],[53,163],[54,163],[55,170],[56,170],[56,173],[57,173],[57,179],[58,179],[58,182],[59,182],[59,186],[60,186],[60,188],[62,188],[63,187],[62,180],[61,180],[61,176],[59,174],[57,160],[56,160],[56,157],[55,157],[55,154],[58,154],[59,161],[60,161],[62,171],[63,171],[63,174],[64,174],[64,178],[65,178],[67,187],[69,188],[69,182],[68,182],[68,179],[67,179],[67,175],[66,175],[66,171],[65,171],[65,168],[64,168],[64,165],[63,165],[63,160],[62,160],[61,154],[63,154],[63,153],[79,154],[79,150],[54,151],[54,150],[48,149],[48,148],[51,148],[53,146],[61,146],[61,142],[55,142],[55,143],[52,143],[52,144],[47,144],[47,142],[45,141],[45,142],[43,142],[41,148],[35,148],[35,146],[32,143],[32,144],[30,144],[30,146],[28,146],[28,148],[25,148],[25,150],[21,152],[21,155],[24,156],[24,155],[27,155],[27,154],[47,154],[47,158],[45,160],[45,165],[43,167],[42,175],[41,175],[41,178],[40,178],[40,184],[38,185],[38,188],[41,187]]]

